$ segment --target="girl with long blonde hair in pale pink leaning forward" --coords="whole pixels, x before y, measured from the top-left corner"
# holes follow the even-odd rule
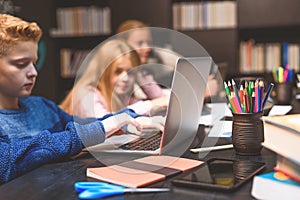
[[[60,105],[69,114],[102,117],[127,107],[151,116],[167,107],[168,97],[153,79],[140,84],[147,99],[135,96],[140,58],[124,40],[110,39],[89,56],[82,75]]]

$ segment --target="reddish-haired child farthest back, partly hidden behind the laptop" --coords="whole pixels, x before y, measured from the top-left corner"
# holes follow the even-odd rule
[[[151,47],[152,35],[149,26],[138,20],[124,21],[117,28],[117,34],[138,52],[142,64],[162,64],[153,64],[153,68],[150,71],[152,71],[152,77],[154,77],[155,81],[163,87],[170,88],[176,61],[181,55],[166,48],[153,49]],[[146,79],[147,77],[142,78]],[[215,96],[218,91],[218,82],[214,78],[214,75],[211,75],[207,83],[205,97]]]

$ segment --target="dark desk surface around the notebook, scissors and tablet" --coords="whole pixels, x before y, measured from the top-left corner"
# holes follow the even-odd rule
[[[299,102],[296,103],[291,113],[299,111]],[[299,112],[298,112],[299,113]],[[138,155],[122,154],[118,157],[111,154],[101,154],[103,163],[117,164]],[[233,149],[210,152],[209,154],[193,154],[187,152],[184,157],[199,160],[208,160],[210,158],[229,158],[238,160],[262,161],[267,164],[262,171],[269,172],[273,169],[276,161],[276,154],[263,148],[259,156],[238,156]],[[117,159],[116,159],[117,158]],[[107,161],[107,162],[106,162]],[[94,181],[86,177],[87,167],[103,166],[90,154],[83,155],[74,160],[52,163],[37,168],[23,176],[20,176],[4,185],[0,186],[1,199],[26,199],[26,200],[68,200],[77,199],[77,193],[73,189],[73,184],[77,181]],[[200,189],[189,189],[175,187],[171,180],[176,178],[170,177],[165,181],[160,181],[149,185],[149,187],[169,187],[167,193],[148,193],[148,194],[126,194],[124,196],[111,197],[111,199],[253,199],[250,195],[252,180],[231,193],[217,191],[206,191]]]

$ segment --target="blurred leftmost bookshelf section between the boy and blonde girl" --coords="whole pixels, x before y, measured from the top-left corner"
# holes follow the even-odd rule
[[[55,44],[57,70],[56,102],[73,87],[76,72],[85,56],[111,33],[111,8],[108,1],[56,0],[55,25],[48,32]]]

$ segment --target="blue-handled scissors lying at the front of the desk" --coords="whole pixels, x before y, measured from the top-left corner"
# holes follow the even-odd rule
[[[169,188],[125,188],[104,182],[76,182],[74,189],[80,192],[79,199],[99,199],[109,196],[135,192],[168,192]]]

